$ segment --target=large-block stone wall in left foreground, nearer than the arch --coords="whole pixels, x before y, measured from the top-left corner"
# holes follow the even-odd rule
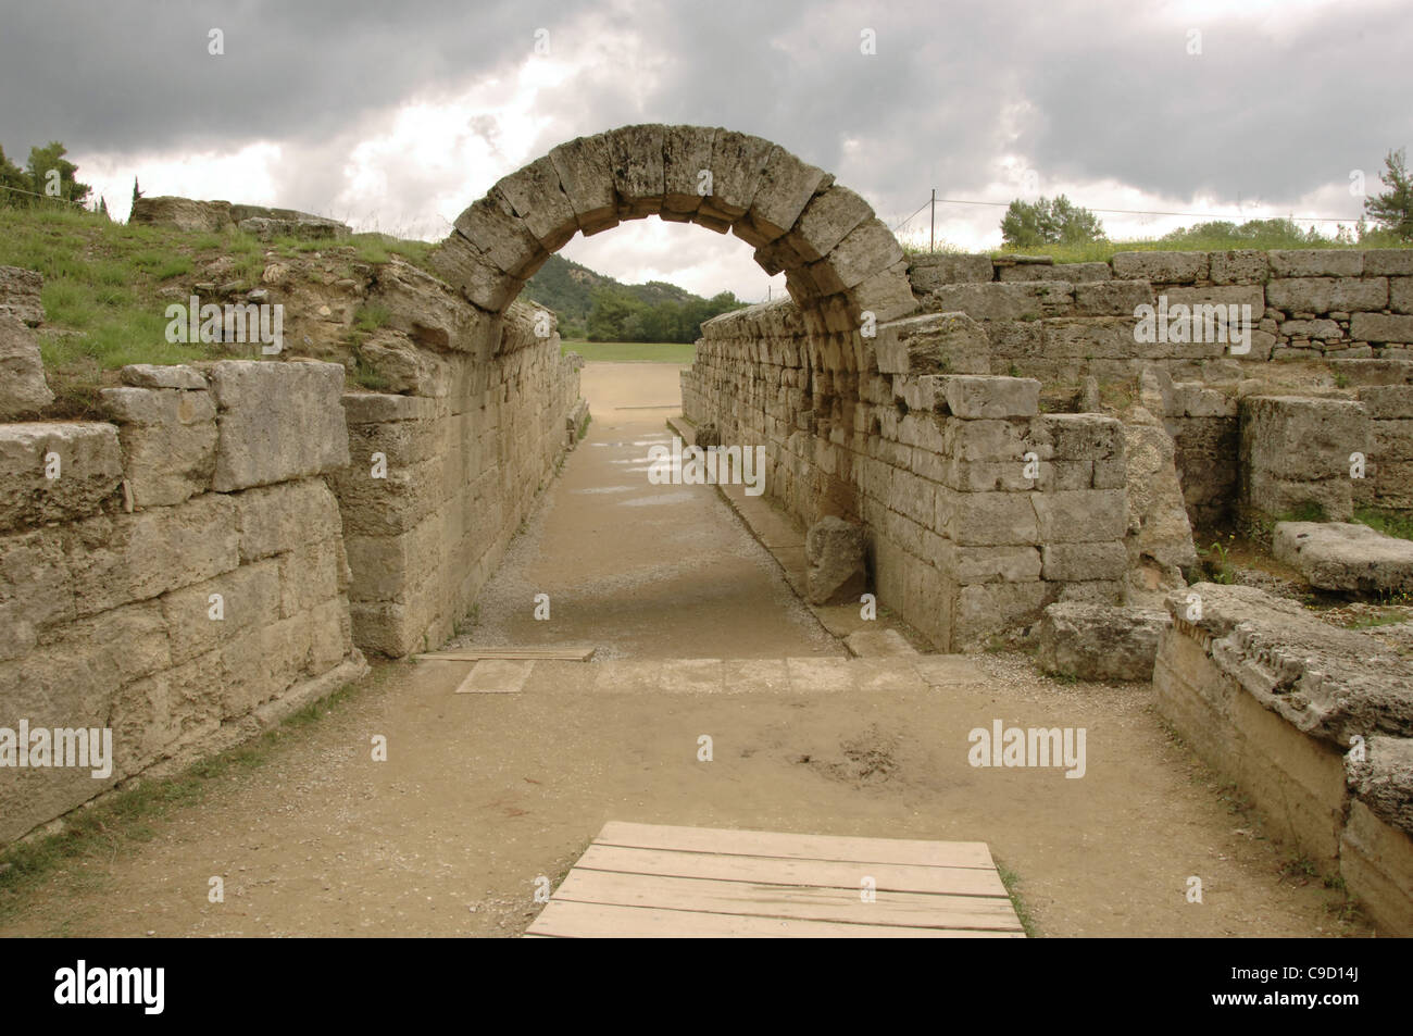
[[[0,844],[366,671],[338,505],[343,369],[123,370],[112,421],[0,424],[0,728],[107,728],[112,772],[0,769]]]

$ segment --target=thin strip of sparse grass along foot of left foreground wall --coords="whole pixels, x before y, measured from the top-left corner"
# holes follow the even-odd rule
[[[199,804],[223,782],[263,766],[277,746],[345,705],[357,690],[356,684],[345,684],[253,741],[194,763],[178,775],[144,779],[95,806],[72,811],[57,834],[31,838],[0,852],[0,919],[13,916],[27,893],[65,864],[112,859],[124,845],[150,841],[157,821]]]

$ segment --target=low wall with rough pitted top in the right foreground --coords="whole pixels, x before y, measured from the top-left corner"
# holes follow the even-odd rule
[[[1277,838],[1413,934],[1413,664],[1251,587],[1167,604],[1159,711]]]

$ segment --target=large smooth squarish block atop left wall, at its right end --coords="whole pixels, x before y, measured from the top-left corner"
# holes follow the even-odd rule
[[[218,492],[336,471],[349,462],[343,367],[222,360],[211,369],[219,407]]]

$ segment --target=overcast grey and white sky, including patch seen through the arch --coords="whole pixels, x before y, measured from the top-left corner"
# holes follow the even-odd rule
[[[903,220],[933,188],[938,239],[971,249],[1003,208],[954,202],[1060,192],[1352,222],[1354,174],[1376,192],[1413,144],[1410,98],[1407,0],[45,0],[6,3],[0,31],[0,144],[23,165],[64,141],[117,218],[136,174],[425,239],[555,144],[639,122],[773,140],[924,243],[928,213]],[[1128,239],[1195,222],[1099,216]],[[738,239],[656,218],[564,254],[771,286]]]

